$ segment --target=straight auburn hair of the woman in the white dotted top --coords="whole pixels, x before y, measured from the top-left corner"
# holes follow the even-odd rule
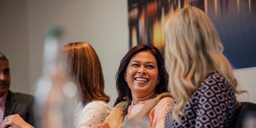
[[[63,46],[68,77],[74,80],[85,106],[93,100],[109,102],[104,93],[104,78],[99,58],[87,42],[74,42]]]

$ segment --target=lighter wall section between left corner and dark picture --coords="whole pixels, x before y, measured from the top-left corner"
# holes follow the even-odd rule
[[[29,2],[30,84],[41,76],[45,29],[63,27],[61,45],[89,42],[99,56],[105,78],[105,92],[113,105],[114,77],[121,58],[128,51],[128,5],[126,0],[31,0]]]

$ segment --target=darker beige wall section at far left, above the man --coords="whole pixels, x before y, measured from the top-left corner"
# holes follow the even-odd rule
[[[12,91],[31,93],[27,0],[0,0],[0,52],[9,60]]]

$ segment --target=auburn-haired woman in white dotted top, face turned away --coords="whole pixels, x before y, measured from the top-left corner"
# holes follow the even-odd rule
[[[103,123],[111,108],[96,52],[86,42],[74,42],[63,46],[63,53],[68,76],[78,87],[74,127],[90,128]]]

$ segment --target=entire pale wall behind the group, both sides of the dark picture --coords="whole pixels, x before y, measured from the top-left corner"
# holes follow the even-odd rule
[[[45,29],[54,24],[65,30],[61,46],[87,41],[94,47],[103,68],[105,92],[113,105],[114,76],[129,49],[127,3],[127,0],[1,0],[0,17],[4,20],[0,20],[0,52],[10,60],[11,90],[33,94],[33,86],[42,74]],[[236,75],[240,89],[249,93],[249,96],[239,95],[238,99],[256,103],[256,68],[236,70]]]

